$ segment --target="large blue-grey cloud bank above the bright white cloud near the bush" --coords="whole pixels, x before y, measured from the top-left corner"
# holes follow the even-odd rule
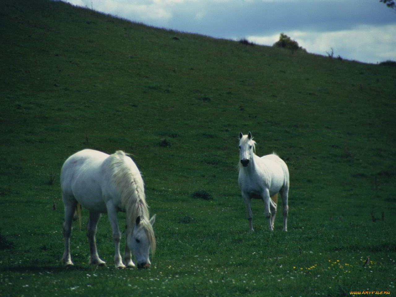
[[[341,30],[394,20],[372,0],[65,0],[131,21],[229,38],[282,30]]]

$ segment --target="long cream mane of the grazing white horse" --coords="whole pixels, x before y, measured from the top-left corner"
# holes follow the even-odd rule
[[[110,167],[113,170],[112,181],[120,189],[122,206],[126,211],[127,226],[129,225],[130,228],[133,228],[136,218],[140,216],[140,226],[147,233],[151,251],[154,255],[156,247],[154,230],[149,221],[150,215],[148,213],[144,182],[139,169],[137,169],[133,161],[122,150],[116,151],[110,155],[110,158],[112,158],[110,161]],[[133,166],[130,165],[131,163],[128,162],[129,160],[127,158],[130,159]]]

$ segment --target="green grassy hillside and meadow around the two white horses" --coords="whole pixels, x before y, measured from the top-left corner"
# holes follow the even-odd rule
[[[62,2],[2,0],[0,12],[0,295],[394,294],[394,67]],[[257,154],[276,151],[289,166],[287,233],[281,211],[267,231],[259,201],[248,232],[240,131],[253,133]],[[97,245],[108,266],[88,265],[77,225],[75,267],[61,265],[60,168],[87,147],[125,150],[141,169],[157,214],[149,270],[113,268],[107,215]]]

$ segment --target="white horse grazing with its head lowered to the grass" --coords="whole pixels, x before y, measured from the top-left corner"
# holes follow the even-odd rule
[[[89,149],[77,152],[63,164],[61,188],[65,205],[65,253],[62,259],[65,265],[73,265],[69,250],[71,224],[74,211],[80,209],[81,204],[89,210],[87,236],[91,264],[106,264],[97,253],[95,233],[101,213],[107,213],[113,233],[116,267],[135,267],[131,259],[131,250],[138,268],[150,267],[149,250],[151,247],[154,255],[156,247],[152,229],[155,215],[149,219],[143,179],[131,158],[122,151],[112,155]],[[126,212],[126,266],[122,263],[120,255],[121,232],[118,228],[118,211]]]

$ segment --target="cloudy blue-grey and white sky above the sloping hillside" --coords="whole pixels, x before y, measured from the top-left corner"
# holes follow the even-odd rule
[[[280,33],[309,53],[396,61],[396,10],[379,0],[63,0],[146,25],[272,46]]]

